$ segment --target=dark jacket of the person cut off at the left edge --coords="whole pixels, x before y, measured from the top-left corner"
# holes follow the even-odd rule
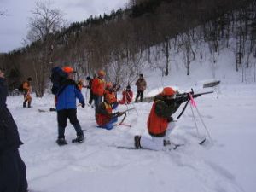
[[[7,96],[6,81],[0,78],[0,156],[8,150],[19,148],[22,144],[15,120],[6,106]]]

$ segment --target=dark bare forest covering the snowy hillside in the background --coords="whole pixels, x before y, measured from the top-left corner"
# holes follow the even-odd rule
[[[37,3],[29,22],[26,46],[0,55],[0,67],[9,89],[31,76],[37,96],[44,96],[56,65],[73,66],[76,79],[103,69],[109,81],[128,84],[142,73],[145,61],[168,75],[173,53],[183,55],[181,65],[189,75],[191,62],[206,51],[203,44],[212,65],[222,49],[232,49],[236,71],[250,67],[256,57],[254,0],[130,0],[126,9],[70,26],[64,26],[61,10]]]

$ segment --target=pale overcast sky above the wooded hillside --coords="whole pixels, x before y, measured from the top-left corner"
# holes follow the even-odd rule
[[[22,47],[26,38],[28,17],[32,16],[35,0],[0,0],[0,53]],[[112,9],[125,8],[128,0],[51,0],[52,7],[60,9],[69,23],[82,21],[90,15],[109,14]]]

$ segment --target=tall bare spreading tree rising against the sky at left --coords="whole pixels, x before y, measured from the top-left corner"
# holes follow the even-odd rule
[[[38,71],[38,84],[36,84],[37,96],[44,96],[46,77],[49,76],[49,68],[52,67],[52,55],[55,47],[55,33],[64,25],[63,14],[59,9],[53,9],[52,3],[37,2],[36,7],[32,9],[32,17],[29,18],[30,31],[27,39],[38,46],[38,61],[34,65],[42,65]]]

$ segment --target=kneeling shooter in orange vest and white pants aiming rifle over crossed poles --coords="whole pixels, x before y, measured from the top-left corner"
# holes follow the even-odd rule
[[[166,87],[154,97],[154,103],[148,116],[148,133],[152,139],[135,136],[136,148],[162,150],[167,144],[170,144],[169,135],[175,127],[172,114],[183,102],[188,101],[188,97],[183,97],[183,99],[175,102],[175,96],[176,91],[171,87]]]

